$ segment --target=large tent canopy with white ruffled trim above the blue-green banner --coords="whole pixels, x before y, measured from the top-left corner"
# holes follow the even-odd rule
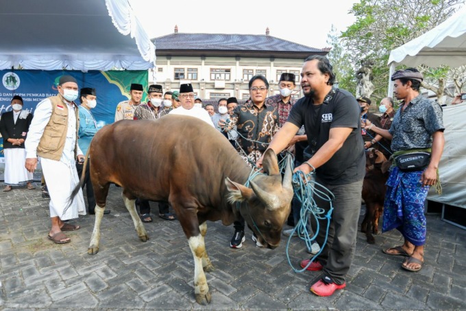
[[[0,70],[155,67],[128,0],[0,0],[0,38]]]

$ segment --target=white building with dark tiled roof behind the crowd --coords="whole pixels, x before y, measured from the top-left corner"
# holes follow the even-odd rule
[[[278,94],[278,80],[284,72],[297,78],[295,97],[300,97],[299,74],[304,59],[326,55],[315,49],[269,35],[184,34],[175,32],[152,39],[156,45],[156,69],[149,82],[162,84],[164,91],[176,91],[191,83],[195,95],[204,99],[249,98],[248,82],[255,75],[269,81],[269,95]]]

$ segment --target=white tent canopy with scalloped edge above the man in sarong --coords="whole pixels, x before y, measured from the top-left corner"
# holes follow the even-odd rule
[[[432,30],[393,49],[389,57],[390,77],[396,65],[416,67],[448,65],[459,67],[466,64],[466,5],[449,19]],[[393,95],[393,83],[389,83],[389,96]]]

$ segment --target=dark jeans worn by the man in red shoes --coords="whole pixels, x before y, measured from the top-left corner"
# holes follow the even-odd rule
[[[354,259],[356,250],[356,234],[358,233],[358,219],[361,207],[361,191],[363,180],[345,185],[327,185],[319,178],[317,183],[327,187],[334,194],[332,220],[328,232],[327,244],[324,246],[327,223],[321,220],[317,242],[323,247],[317,260],[323,265],[324,275],[331,277],[336,284],[345,282]],[[319,207],[328,211],[330,204],[321,198],[315,198]],[[312,218],[312,229],[317,230],[315,219]]]

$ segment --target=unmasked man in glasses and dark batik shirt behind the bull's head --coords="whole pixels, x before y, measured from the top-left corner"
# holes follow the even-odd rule
[[[254,76],[249,80],[249,96],[244,105],[237,106],[227,130],[236,128],[240,135],[241,155],[248,163],[256,163],[267,149],[272,136],[278,131],[278,110],[265,103],[269,82],[264,76]],[[235,127],[236,126],[236,127]],[[241,216],[240,216],[241,217]],[[262,247],[253,235],[256,246]],[[234,222],[234,235],[230,247],[240,249],[245,241],[245,220]]]

